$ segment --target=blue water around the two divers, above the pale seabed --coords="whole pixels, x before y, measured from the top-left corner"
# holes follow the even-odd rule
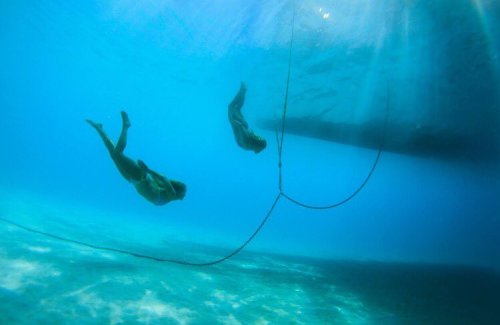
[[[4,205],[41,197],[73,212],[100,211],[87,216],[96,223],[113,215],[117,228],[134,221],[150,225],[151,236],[177,229],[179,238],[225,247],[253,231],[278,191],[274,133],[255,127],[268,148],[259,155],[241,150],[227,104],[243,80],[251,126],[280,116],[291,3],[0,6]],[[289,114],[334,107],[332,120],[363,123],[381,116],[389,85],[393,120],[484,135],[498,151],[499,22],[495,1],[301,2]],[[311,98],[313,92],[325,95]],[[122,109],[133,125],[126,153],[185,182],[183,201],[156,207],[137,195],[84,123],[101,121],[116,139]],[[286,135],[284,186],[314,204],[338,201],[364,179],[375,155]],[[464,156],[383,153],[353,201],[318,212],[283,200],[249,249],[498,268],[498,160]],[[40,218],[33,223],[43,226]],[[83,229],[81,238],[86,231],[90,237],[92,229]]]

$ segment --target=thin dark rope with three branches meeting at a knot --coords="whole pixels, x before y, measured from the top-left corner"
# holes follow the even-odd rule
[[[186,266],[211,266],[211,265],[222,263],[222,262],[230,259],[231,257],[235,256],[239,252],[241,252],[255,238],[255,236],[257,236],[257,234],[262,230],[262,228],[264,227],[266,222],[271,217],[271,215],[274,211],[274,208],[278,204],[281,197],[284,197],[287,200],[289,200],[290,202],[297,204],[299,206],[302,206],[304,208],[308,208],[308,209],[331,209],[331,208],[335,208],[335,207],[338,207],[340,205],[343,205],[344,203],[350,201],[365,187],[365,185],[368,183],[368,180],[373,175],[373,172],[375,171],[375,169],[378,165],[378,162],[380,160],[380,156],[382,154],[383,143],[385,142],[385,133],[386,133],[385,129],[387,129],[388,108],[386,107],[386,109],[387,109],[386,110],[386,120],[385,120],[386,125],[385,125],[385,129],[384,129],[384,135],[382,137],[381,145],[378,149],[378,153],[377,153],[377,156],[375,158],[375,161],[374,161],[368,175],[366,176],[365,180],[361,183],[361,185],[351,195],[349,195],[347,198],[345,198],[345,199],[343,199],[335,204],[331,204],[331,205],[327,205],[327,206],[314,206],[314,205],[305,204],[305,203],[302,203],[299,200],[296,200],[296,199],[292,198],[291,196],[287,195],[283,191],[282,152],[283,152],[283,142],[285,139],[285,124],[286,124],[285,122],[286,122],[286,113],[287,113],[287,105],[288,105],[288,88],[290,85],[290,70],[291,70],[291,62],[292,62],[292,47],[293,47],[293,39],[294,39],[294,37],[293,37],[294,36],[294,29],[295,29],[295,6],[293,8],[292,33],[291,33],[291,37],[290,37],[290,49],[289,49],[289,57],[288,57],[288,73],[287,73],[287,80],[286,80],[286,91],[285,91],[283,115],[282,115],[282,120],[281,120],[281,134],[280,134],[281,138],[279,137],[278,129],[276,129],[276,141],[278,144],[278,170],[279,170],[278,189],[279,189],[279,193],[276,195],[276,197],[273,201],[273,204],[271,205],[271,208],[267,211],[266,216],[261,221],[259,226],[255,229],[255,231],[247,238],[247,240],[245,242],[243,242],[243,244],[241,244],[238,248],[232,250],[229,254],[227,254],[221,258],[218,258],[218,259],[215,259],[212,261],[208,261],[208,262],[189,262],[189,261],[184,261],[184,260],[180,260],[180,259],[160,258],[160,257],[151,256],[151,255],[146,255],[146,254],[135,253],[135,252],[124,250],[124,249],[100,246],[100,245],[95,245],[95,244],[91,244],[91,243],[87,243],[87,242],[83,242],[83,241],[79,241],[79,240],[74,240],[71,238],[62,237],[62,236],[55,235],[55,234],[52,234],[49,232],[45,232],[45,231],[41,231],[41,230],[37,230],[34,228],[30,228],[30,227],[21,225],[19,223],[16,223],[14,221],[11,221],[11,220],[3,218],[3,217],[0,217],[0,221],[7,223],[11,226],[17,227],[19,229],[34,233],[34,234],[42,235],[42,236],[45,236],[48,238],[52,238],[55,240],[59,240],[59,241],[63,241],[63,242],[71,243],[71,244],[76,244],[76,245],[92,248],[95,250],[119,253],[119,254],[129,255],[129,256],[133,256],[133,257],[137,257],[137,258],[143,258],[143,259],[152,260],[152,261],[156,261],[156,262],[162,262],[162,263],[172,263],[172,264],[179,264],[179,265],[186,265]]]

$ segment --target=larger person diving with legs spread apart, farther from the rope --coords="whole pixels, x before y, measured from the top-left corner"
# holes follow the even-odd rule
[[[151,170],[144,162],[135,162],[125,156],[123,151],[127,146],[127,131],[130,121],[126,112],[122,111],[122,131],[116,146],[108,138],[102,124],[86,120],[99,133],[109,155],[120,174],[131,182],[137,192],[145,199],[156,205],[163,205],[173,200],[182,200],[186,194],[186,185],[175,180],[168,180],[165,176]]]

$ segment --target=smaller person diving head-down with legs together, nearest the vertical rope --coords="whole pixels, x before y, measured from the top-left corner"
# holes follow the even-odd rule
[[[233,128],[236,143],[243,149],[259,153],[266,148],[267,143],[265,139],[250,130],[247,121],[241,113],[241,108],[245,103],[246,90],[245,84],[242,82],[240,90],[228,106],[229,122]]]

